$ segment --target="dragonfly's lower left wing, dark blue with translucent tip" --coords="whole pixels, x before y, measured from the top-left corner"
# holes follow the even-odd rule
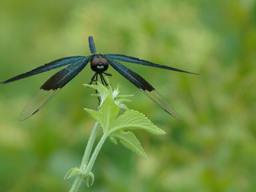
[[[60,70],[50,77],[26,104],[20,115],[20,121],[38,112],[62,87],[72,80],[90,61],[90,56]]]

